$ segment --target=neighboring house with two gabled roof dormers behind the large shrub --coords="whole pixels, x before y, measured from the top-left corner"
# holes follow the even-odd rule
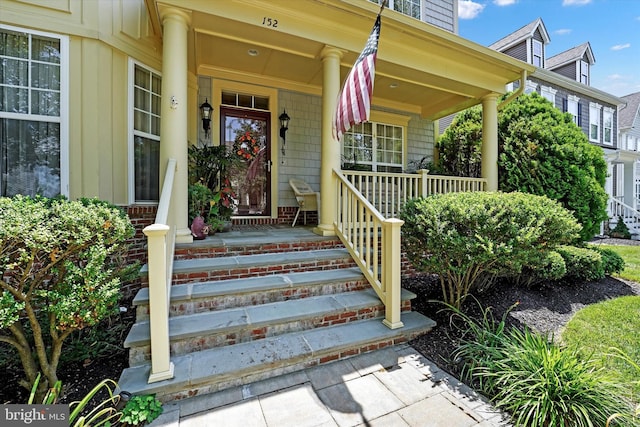
[[[622,136],[623,118],[625,128],[631,129],[629,119],[635,112],[627,110],[622,113],[630,101],[626,97],[619,98],[590,86],[590,70],[595,64],[595,56],[588,42],[547,57],[549,42],[545,25],[538,18],[489,47],[535,65],[535,71],[527,77],[525,93],[538,92],[561,111],[570,113],[589,141],[602,147],[609,168],[605,187],[610,196],[609,215],[615,221],[619,214],[616,201],[635,208],[638,206],[633,183],[638,180],[638,167],[635,165],[640,151],[637,144],[629,142],[629,132]],[[629,219],[630,226],[637,223],[638,218]]]

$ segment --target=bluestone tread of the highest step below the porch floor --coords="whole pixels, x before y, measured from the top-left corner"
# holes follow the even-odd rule
[[[265,265],[287,265],[307,261],[322,261],[350,257],[346,249],[317,249],[310,251],[274,252],[266,254],[235,255],[212,258],[181,259],[173,262],[173,274],[199,272],[203,270],[225,270],[233,268],[259,267]],[[148,273],[148,264],[140,269]]]

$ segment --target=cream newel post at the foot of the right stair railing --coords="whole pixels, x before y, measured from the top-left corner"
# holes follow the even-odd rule
[[[385,316],[382,321],[390,329],[404,326],[401,319],[401,250],[400,229],[404,221],[397,218],[386,219],[382,223],[382,271],[384,274]]]

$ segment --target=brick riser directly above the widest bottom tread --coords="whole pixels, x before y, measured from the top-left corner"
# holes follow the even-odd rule
[[[403,301],[402,311],[411,311],[411,301]],[[308,319],[284,321],[279,324],[265,326],[239,327],[220,333],[211,333],[202,336],[187,337],[172,340],[170,344],[171,356],[181,356],[195,351],[207,350],[215,347],[223,347],[243,342],[256,341],[266,337],[278,336],[290,332],[322,328],[356,322],[365,319],[383,318],[384,305],[366,307],[358,310],[350,310],[341,313],[330,313],[325,316],[317,316]],[[133,347],[129,349],[129,366],[138,366],[150,361],[149,345]]]

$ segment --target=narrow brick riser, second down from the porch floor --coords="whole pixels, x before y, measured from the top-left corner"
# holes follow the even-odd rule
[[[236,267],[229,269],[217,269],[190,273],[174,273],[172,283],[180,285],[185,283],[211,282],[227,279],[246,279],[248,277],[266,276],[271,274],[301,273],[305,271],[334,270],[339,268],[351,268],[356,264],[351,258],[319,260],[310,262],[264,265],[252,267]],[[147,282],[147,283],[145,283]],[[148,286],[147,278],[142,280],[142,286]]]

